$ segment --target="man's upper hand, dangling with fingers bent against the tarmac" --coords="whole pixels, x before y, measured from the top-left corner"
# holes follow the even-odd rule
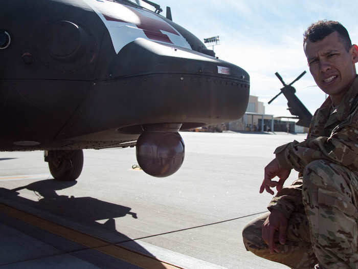
[[[280,169],[277,159],[273,159],[269,164],[265,167],[264,178],[260,187],[260,193],[264,190],[270,194],[274,194],[274,191],[271,188],[276,187],[276,190],[279,192],[282,189],[283,183],[288,178],[291,170]],[[278,176],[279,180],[271,180],[274,177]]]

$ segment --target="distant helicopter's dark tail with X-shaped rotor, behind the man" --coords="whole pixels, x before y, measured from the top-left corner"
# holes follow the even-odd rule
[[[274,98],[272,98],[269,101],[269,104],[273,100],[275,100],[281,93],[286,97],[287,99],[287,106],[288,111],[296,116],[296,117],[288,117],[288,118],[294,118],[299,119],[299,121],[296,122],[296,125],[303,126],[303,127],[309,127],[309,123],[311,122],[312,114],[306,109],[306,107],[302,104],[300,99],[296,96],[296,89],[292,87],[297,80],[299,80],[304,74],[306,74],[306,71],[303,71],[301,75],[299,75],[294,81],[292,81],[290,84],[286,85],[283,81],[282,77],[278,72],[275,73],[275,75],[280,79],[280,81],[283,84],[283,88],[281,88],[281,92],[278,93]]]

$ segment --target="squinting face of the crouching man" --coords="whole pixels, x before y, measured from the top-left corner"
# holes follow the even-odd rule
[[[355,77],[356,46],[347,51],[338,32],[333,32],[317,42],[307,40],[304,51],[318,87],[338,105]]]

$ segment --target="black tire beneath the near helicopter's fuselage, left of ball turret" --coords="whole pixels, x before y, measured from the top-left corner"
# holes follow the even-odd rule
[[[49,169],[56,180],[76,180],[83,167],[83,151],[49,151]]]

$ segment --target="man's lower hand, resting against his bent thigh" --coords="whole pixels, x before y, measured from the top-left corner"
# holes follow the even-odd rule
[[[279,233],[280,244],[286,242],[287,218],[282,212],[273,210],[262,224],[262,239],[269,246],[270,253],[279,252],[275,245],[275,233]]]

